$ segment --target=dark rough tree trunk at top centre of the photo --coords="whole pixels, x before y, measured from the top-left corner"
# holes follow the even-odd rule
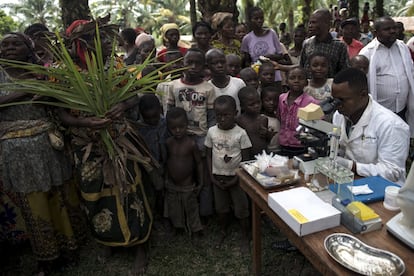
[[[198,9],[206,22],[210,22],[211,16],[216,12],[231,12],[235,21],[239,17],[237,0],[198,0],[197,2]]]

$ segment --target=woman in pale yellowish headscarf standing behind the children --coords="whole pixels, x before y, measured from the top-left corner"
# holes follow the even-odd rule
[[[233,14],[229,12],[216,12],[211,17],[211,27],[216,31],[211,45],[213,48],[223,50],[225,55],[235,54],[241,57],[240,41],[234,32],[235,22]]]

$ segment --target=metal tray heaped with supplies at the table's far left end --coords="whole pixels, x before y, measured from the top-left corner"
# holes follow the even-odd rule
[[[240,167],[250,174],[264,189],[274,189],[299,183],[300,178],[295,178],[297,170],[290,170],[290,174],[283,177],[268,176],[264,173],[259,173],[259,168],[255,163],[255,160],[244,161],[240,163]]]

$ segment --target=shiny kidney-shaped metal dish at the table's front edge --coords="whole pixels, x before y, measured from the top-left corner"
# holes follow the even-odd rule
[[[335,261],[362,275],[402,275],[405,271],[403,260],[394,253],[369,246],[348,234],[329,235],[325,249]]]

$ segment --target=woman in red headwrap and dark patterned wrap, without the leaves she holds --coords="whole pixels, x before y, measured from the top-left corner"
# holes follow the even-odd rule
[[[113,58],[117,67],[122,66],[119,58],[111,57],[111,45],[117,33],[113,25],[98,21],[98,29],[104,62],[108,64]],[[84,69],[85,74],[88,73],[86,59],[92,53],[97,54],[95,32],[95,21],[75,21],[66,31],[75,47],[78,65]],[[102,261],[102,258],[108,257],[111,247],[135,246],[133,273],[142,272],[147,264],[145,245],[152,227],[152,213],[146,196],[147,175],[140,160],[152,159],[144,146],[139,148],[140,157],[125,157],[126,171],[119,171],[108,157],[108,152],[103,150],[99,137],[100,130],[106,128],[114,141],[122,140],[128,147],[138,148],[136,137],[131,138],[126,131],[133,126],[124,118],[124,111],[134,106],[137,100],[138,97],[132,97],[115,105],[104,118],[74,110],[61,110],[60,113],[62,122],[70,127],[73,136],[75,156],[79,160],[77,168],[80,172],[80,190],[91,233],[104,246],[99,257]],[[118,152],[120,155],[127,153],[129,154],[126,149],[122,153]],[[150,161],[148,165],[152,166],[153,163]],[[125,176],[128,186],[123,187],[119,183],[118,172]]]

